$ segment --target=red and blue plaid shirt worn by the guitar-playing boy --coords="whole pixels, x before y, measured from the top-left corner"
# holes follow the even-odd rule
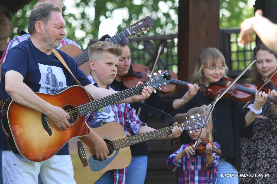
[[[96,81],[94,81],[91,74],[89,74],[88,79],[94,86],[98,87],[98,84],[96,83]],[[114,89],[112,89],[109,85],[107,87],[108,89],[114,91]],[[142,125],[146,126],[146,123],[143,123],[139,120],[139,117],[135,113],[135,109],[131,108],[129,103],[111,105],[111,109],[112,111],[114,111],[115,121],[121,124],[121,126],[125,130],[126,135],[127,131],[129,131],[131,135],[137,135],[139,127]],[[93,119],[96,119],[93,118],[94,113],[95,112],[92,112],[86,115],[85,121],[88,123],[88,125],[90,125]],[[114,184],[125,183],[126,170],[127,168],[114,169]]]

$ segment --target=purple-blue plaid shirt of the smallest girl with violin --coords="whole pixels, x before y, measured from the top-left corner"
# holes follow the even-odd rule
[[[216,156],[216,153],[213,153],[214,162],[212,165],[207,164],[205,152],[200,153],[196,157],[190,158],[188,158],[187,154],[185,154],[182,159],[176,162],[176,154],[183,151],[188,145],[189,144],[183,144],[177,151],[168,157],[166,161],[166,166],[168,169],[176,171],[181,167],[182,171],[180,172],[179,184],[215,183],[219,163],[219,156]],[[216,148],[220,147],[216,142],[214,145]]]

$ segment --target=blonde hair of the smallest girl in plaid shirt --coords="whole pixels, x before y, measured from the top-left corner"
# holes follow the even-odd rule
[[[200,114],[200,116],[204,115],[205,118],[207,118],[207,116],[209,114],[209,110],[206,108],[203,109],[200,107],[194,107],[188,111],[187,118],[190,119],[190,116],[195,116],[196,114]],[[206,123],[207,123],[207,125],[211,124],[211,129],[209,132],[207,132],[207,138],[209,139],[209,141],[212,141],[212,116],[209,118],[209,121]]]

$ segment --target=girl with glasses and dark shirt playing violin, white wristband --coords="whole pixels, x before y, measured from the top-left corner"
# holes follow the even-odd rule
[[[224,56],[216,48],[207,48],[199,56],[194,70],[194,82],[200,86],[207,87],[219,82],[226,77],[228,68]],[[184,90],[181,95],[186,93]],[[196,94],[183,107],[173,112],[178,122],[183,122],[186,112],[193,107],[210,104],[214,99],[207,95]],[[253,134],[253,120],[258,111],[267,100],[265,92],[255,94],[254,104],[248,113],[243,110],[243,104],[233,101],[231,98],[220,99],[212,112],[214,135],[213,140],[221,145],[222,156],[218,166],[217,184],[238,183],[237,177],[221,177],[222,174],[238,173],[240,169],[240,137],[249,137]],[[181,143],[189,143],[191,138],[182,134]]]

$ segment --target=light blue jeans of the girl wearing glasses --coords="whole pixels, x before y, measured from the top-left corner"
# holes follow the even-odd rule
[[[231,177],[221,177],[221,174],[225,175],[228,173],[238,174],[238,170],[232,164],[226,162],[225,158],[219,159],[216,184],[238,184],[238,177],[235,177],[235,175],[231,175]]]

